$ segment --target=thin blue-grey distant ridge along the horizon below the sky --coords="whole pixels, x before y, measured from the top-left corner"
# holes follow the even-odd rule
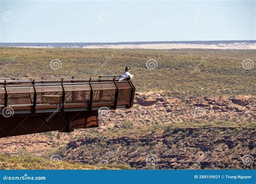
[[[227,41],[134,41],[117,43],[0,43],[0,47],[53,47],[53,48],[81,48],[84,46],[100,45],[144,45],[144,44],[235,44],[235,43],[256,43],[256,40],[227,40]]]

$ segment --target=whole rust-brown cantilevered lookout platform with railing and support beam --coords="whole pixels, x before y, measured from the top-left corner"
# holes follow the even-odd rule
[[[135,90],[117,76],[0,79],[0,137],[98,127],[98,110],[131,108]]]

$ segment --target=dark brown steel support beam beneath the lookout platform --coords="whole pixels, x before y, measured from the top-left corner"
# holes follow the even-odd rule
[[[98,110],[0,117],[0,137],[98,127]]]

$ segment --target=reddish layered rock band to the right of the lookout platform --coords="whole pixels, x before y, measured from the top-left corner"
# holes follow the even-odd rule
[[[111,111],[100,118],[102,126],[179,124],[230,121],[234,125],[256,122],[255,96],[198,98],[171,97],[171,92],[136,93],[135,105],[129,110]]]

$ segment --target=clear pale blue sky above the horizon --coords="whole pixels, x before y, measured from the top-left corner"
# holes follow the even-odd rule
[[[1,1],[0,42],[255,40],[254,1]]]

